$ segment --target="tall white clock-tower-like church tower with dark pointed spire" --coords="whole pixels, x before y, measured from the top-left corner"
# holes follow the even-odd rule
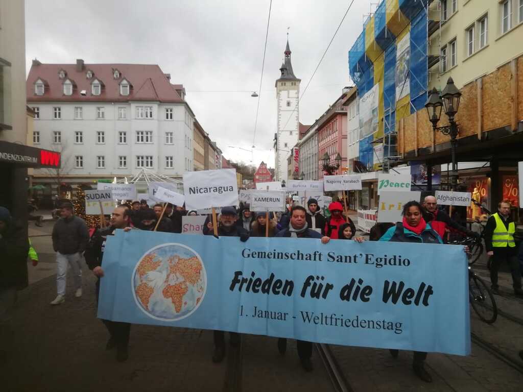
[[[276,99],[278,103],[277,127],[275,136],[275,181],[288,180],[287,158],[292,147],[299,140],[299,97],[301,80],[294,76],[291,64],[289,41],[285,50],[285,60],[280,67],[281,76],[276,80]]]

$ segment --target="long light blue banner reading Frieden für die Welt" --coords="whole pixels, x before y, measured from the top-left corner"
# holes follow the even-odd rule
[[[103,319],[470,353],[461,246],[117,230],[103,267]]]

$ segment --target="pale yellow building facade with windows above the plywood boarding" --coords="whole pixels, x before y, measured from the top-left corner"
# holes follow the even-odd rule
[[[439,56],[429,90],[449,77],[462,88],[523,53],[523,0],[438,0],[429,18],[440,20],[429,38],[429,55]]]

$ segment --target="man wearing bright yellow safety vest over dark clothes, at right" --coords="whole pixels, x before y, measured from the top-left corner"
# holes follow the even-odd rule
[[[491,283],[492,292],[499,294],[497,272],[503,262],[507,262],[512,274],[514,293],[523,295],[521,290],[521,274],[518,264],[518,249],[514,241],[516,226],[510,217],[510,202],[502,201],[497,206],[498,212],[488,218],[483,232],[487,255],[492,256]]]

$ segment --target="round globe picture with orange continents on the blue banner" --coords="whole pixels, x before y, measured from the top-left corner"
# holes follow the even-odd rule
[[[132,274],[134,300],[154,319],[177,321],[200,306],[207,273],[200,255],[181,244],[162,244],[145,252]]]

